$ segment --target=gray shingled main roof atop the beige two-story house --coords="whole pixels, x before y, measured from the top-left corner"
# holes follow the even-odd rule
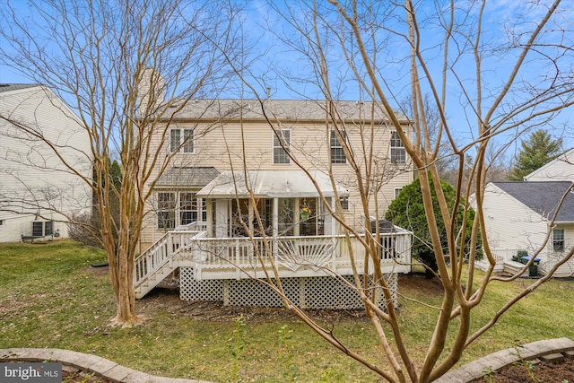
[[[183,102],[183,101],[181,101]],[[181,102],[176,102],[169,108],[177,108]],[[319,120],[326,119],[325,100],[189,100],[187,105],[175,113],[174,118],[183,119],[262,119],[262,105],[268,118]],[[371,113],[376,121],[387,121],[387,115],[382,106],[371,111],[372,102],[367,101],[335,101],[336,113],[339,120],[370,121]],[[399,115],[400,121],[407,123],[408,119]]]

